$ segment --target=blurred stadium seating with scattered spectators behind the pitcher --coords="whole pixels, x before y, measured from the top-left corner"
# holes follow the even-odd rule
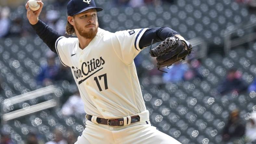
[[[153,126],[182,144],[256,143],[255,0],[95,1],[105,30],[167,26],[195,50],[168,73],[149,48],[134,59]],[[68,0],[43,2],[40,19],[65,35]],[[25,3],[0,0],[0,144],[73,144],[85,128],[83,103]]]

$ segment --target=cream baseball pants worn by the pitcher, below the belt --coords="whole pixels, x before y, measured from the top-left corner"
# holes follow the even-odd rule
[[[145,121],[146,117],[142,116],[142,121],[128,126],[108,126],[87,120],[83,134],[75,144],[181,144],[151,126],[148,118]]]

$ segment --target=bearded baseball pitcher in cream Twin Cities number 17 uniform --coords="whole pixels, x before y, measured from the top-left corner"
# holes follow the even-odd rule
[[[66,38],[38,18],[43,2],[37,2],[37,11],[26,4],[27,18],[61,63],[70,67],[84,102],[86,128],[75,144],[180,144],[150,125],[134,58],[152,39],[156,43],[175,36],[189,45],[183,37],[168,27],[111,33],[98,27],[97,12],[103,9],[94,0],[70,0],[66,32],[77,38]]]

